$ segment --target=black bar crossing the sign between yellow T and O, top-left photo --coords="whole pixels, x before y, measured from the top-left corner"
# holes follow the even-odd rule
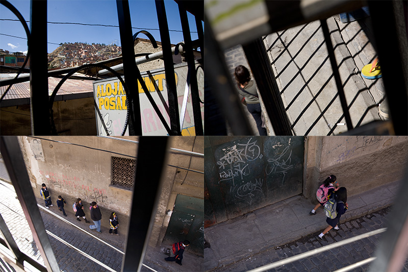
[[[179,101],[177,100],[177,88],[175,84],[173,54],[171,53],[170,34],[167,24],[166,9],[163,0],[156,0],[157,19],[159,21],[160,38],[164,58],[164,69],[166,75],[167,95],[170,110],[170,128],[173,135],[182,135],[180,128]]]

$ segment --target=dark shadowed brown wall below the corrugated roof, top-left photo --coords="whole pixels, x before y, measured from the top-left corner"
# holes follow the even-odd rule
[[[96,135],[92,97],[57,101],[53,109],[59,135]],[[2,107],[0,131],[2,135],[31,135],[30,105]]]

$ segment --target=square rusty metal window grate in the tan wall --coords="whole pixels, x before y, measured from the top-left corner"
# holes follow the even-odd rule
[[[133,188],[136,160],[112,156],[112,185]]]

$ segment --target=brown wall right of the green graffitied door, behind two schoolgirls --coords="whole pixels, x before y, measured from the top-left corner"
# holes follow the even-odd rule
[[[408,161],[407,136],[309,136],[303,194],[315,201],[319,185],[335,175],[348,195],[401,180]]]

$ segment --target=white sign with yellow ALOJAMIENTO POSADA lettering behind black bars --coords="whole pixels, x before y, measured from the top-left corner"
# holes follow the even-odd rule
[[[199,64],[196,62],[196,67]],[[187,63],[174,65],[175,81],[177,86],[177,101],[179,103],[179,114],[182,119],[182,104],[187,82]],[[143,81],[145,82],[151,96],[158,106],[164,119],[170,124],[170,117],[166,110],[168,108],[167,85],[164,68],[141,72]],[[123,77],[122,77],[123,78]],[[201,101],[204,96],[204,76],[202,69],[197,69],[198,90]],[[151,106],[146,94],[144,93],[141,84],[139,86],[139,99],[141,108],[142,133],[143,135],[168,135],[163,126],[159,115]],[[110,78],[93,82],[93,94],[96,106],[104,120],[105,126],[111,136],[120,136],[126,120],[126,95],[122,83],[119,79]],[[200,104],[201,115],[204,114],[204,105]],[[96,126],[99,136],[106,136],[106,130],[101,122],[101,118],[97,110]],[[203,120],[204,118],[202,118]],[[170,125],[169,125],[170,126]],[[125,135],[129,135],[129,129],[126,129]],[[189,92],[187,107],[184,115],[182,127],[182,135],[195,135],[193,108],[191,104],[191,94]]]

